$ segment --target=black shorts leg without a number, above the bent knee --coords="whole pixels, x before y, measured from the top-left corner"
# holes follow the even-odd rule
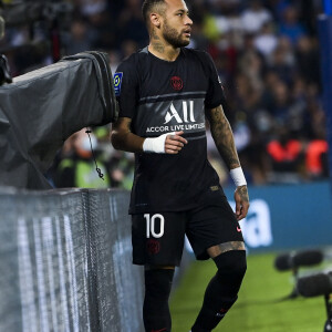
[[[208,259],[207,249],[221,243],[243,245],[240,225],[225,196],[218,205],[194,210],[186,234],[197,259]]]

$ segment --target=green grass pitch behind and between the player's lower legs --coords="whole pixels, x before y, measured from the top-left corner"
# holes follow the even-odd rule
[[[239,299],[214,331],[322,332],[323,297],[283,300],[293,289],[291,272],[274,269],[276,255],[249,255]],[[199,311],[205,287],[216,271],[212,261],[193,262],[172,294],[174,332],[188,332]]]

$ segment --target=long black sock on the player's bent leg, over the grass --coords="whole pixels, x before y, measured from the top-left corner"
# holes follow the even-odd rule
[[[238,298],[246,273],[246,251],[231,250],[214,258],[218,271],[209,282],[193,332],[215,329]]]

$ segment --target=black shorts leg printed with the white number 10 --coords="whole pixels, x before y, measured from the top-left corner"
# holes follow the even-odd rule
[[[179,266],[185,229],[185,212],[133,215],[133,262],[145,266]]]

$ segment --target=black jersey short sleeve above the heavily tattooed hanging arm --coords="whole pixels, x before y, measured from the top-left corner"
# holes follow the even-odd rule
[[[225,104],[225,94],[222,85],[210,54],[204,52],[205,65],[207,66],[207,73],[209,74],[209,86],[206,95],[205,106],[206,108],[215,108]]]

